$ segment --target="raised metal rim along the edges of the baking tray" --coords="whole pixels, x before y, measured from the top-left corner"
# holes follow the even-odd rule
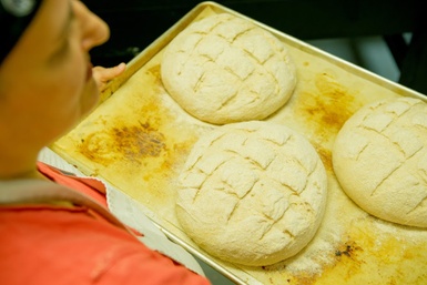
[[[234,16],[237,16],[242,19],[248,20],[256,26],[263,28],[264,30],[270,31],[275,37],[279,38],[281,40],[285,40],[286,44],[293,45],[294,48],[297,48],[304,52],[307,52],[312,55],[316,55],[323,60],[326,60],[339,68],[345,69],[349,73],[359,77],[362,79],[365,79],[372,83],[378,84],[383,88],[386,88],[399,95],[403,96],[413,96],[421,99],[423,101],[427,102],[427,96],[411,90],[405,85],[401,85],[399,83],[396,83],[392,80],[388,80],[386,78],[383,78],[372,71],[368,71],[362,67],[358,67],[352,62],[348,62],[346,60],[343,60],[334,54],[331,54],[326,51],[323,51],[307,42],[304,42],[293,35],[289,35],[283,31],[279,31],[275,28],[272,28],[267,24],[264,24],[257,20],[254,20],[245,14],[242,14],[235,10],[232,10],[221,3],[214,2],[214,1],[203,1],[197,3],[194,8],[192,8],[189,12],[184,14],[177,22],[175,22],[171,28],[169,28],[165,32],[163,32],[157,39],[155,39],[151,44],[149,44],[144,50],[142,50],[136,57],[134,57],[129,63],[126,71],[115,80],[109,82],[106,85],[106,89],[101,94],[101,100],[99,104],[102,104],[105,100],[108,100],[111,95],[114,94],[116,90],[119,90],[136,71],[139,71],[144,64],[146,64],[152,58],[154,58],[159,50],[162,50],[165,48],[176,34],[179,34],[185,27],[187,27],[194,19],[199,17],[199,14],[206,8],[213,9],[215,12],[226,12]],[[150,217],[151,218],[151,217]],[[152,220],[152,218],[151,218]],[[154,220],[152,222],[174,243],[181,245],[186,251],[189,251],[191,254],[213,267],[215,271],[223,274],[225,277],[230,278],[235,284],[261,284],[261,282],[256,281],[254,277],[250,276],[247,273],[244,273],[247,278],[244,281],[242,276],[237,276],[231,271],[226,269],[225,267],[221,266],[221,264],[216,263],[214,259],[210,258],[209,255],[206,255],[204,252],[201,252],[199,248],[194,248],[191,244],[187,244],[185,241],[183,241],[180,236],[176,234],[170,232],[164,226],[156,223]],[[238,268],[236,268],[238,269]]]

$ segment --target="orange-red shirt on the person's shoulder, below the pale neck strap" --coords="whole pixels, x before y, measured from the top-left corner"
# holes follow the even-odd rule
[[[0,235],[8,284],[207,284],[87,207],[2,206]]]

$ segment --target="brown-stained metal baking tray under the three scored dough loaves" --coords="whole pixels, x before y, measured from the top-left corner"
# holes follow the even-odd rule
[[[328,204],[313,241],[282,263],[248,267],[222,262],[197,247],[174,213],[176,177],[192,145],[217,126],[185,113],[160,78],[162,51],[190,23],[231,13],[270,31],[288,48],[298,83],[292,99],[265,121],[304,134],[328,174]],[[135,37],[144,37],[135,34]],[[100,105],[51,149],[87,175],[101,177],[141,203],[174,242],[236,284],[427,284],[427,230],[368,215],[343,192],[331,149],[343,123],[384,98],[426,96],[215,2],[202,2],[129,62]],[[206,213],[209,214],[209,213]]]

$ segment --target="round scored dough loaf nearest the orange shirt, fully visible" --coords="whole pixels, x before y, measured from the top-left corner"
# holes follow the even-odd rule
[[[275,123],[221,126],[192,149],[179,179],[176,215],[201,248],[248,266],[304,248],[323,220],[327,177],[312,144]]]

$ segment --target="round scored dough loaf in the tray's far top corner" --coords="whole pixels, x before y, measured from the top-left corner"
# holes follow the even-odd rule
[[[284,44],[227,13],[183,30],[164,51],[161,78],[181,108],[213,124],[265,119],[288,101],[296,85]]]

